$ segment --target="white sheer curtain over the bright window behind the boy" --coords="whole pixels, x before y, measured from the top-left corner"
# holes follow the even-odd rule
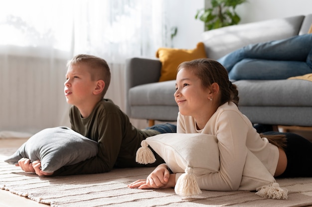
[[[124,109],[125,59],[154,57],[169,34],[164,0],[10,0],[0,7],[0,131],[68,125],[66,62],[110,64],[107,98]]]

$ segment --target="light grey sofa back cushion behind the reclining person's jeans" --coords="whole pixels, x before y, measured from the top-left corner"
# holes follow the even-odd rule
[[[217,60],[248,44],[286,39],[298,35],[304,18],[304,15],[299,15],[206,31],[202,34],[206,54],[209,58]]]

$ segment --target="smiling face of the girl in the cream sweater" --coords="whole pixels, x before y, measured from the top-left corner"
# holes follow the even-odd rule
[[[175,89],[174,99],[182,115],[201,119],[205,114],[211,114],[211,91],[203,88],[201,80],[191,69],[182,68],[177,73]]]

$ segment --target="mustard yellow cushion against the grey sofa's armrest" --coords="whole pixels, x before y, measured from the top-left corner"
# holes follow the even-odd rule
[[[159,48],[156,57],[161,62],[159,82],[175,80],[176,69],[184,61],[207,58],[204,43],[199,42],[195,49]]]

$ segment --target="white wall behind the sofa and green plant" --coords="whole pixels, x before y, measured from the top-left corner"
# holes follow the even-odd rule
[[[209,2],[209,0],[207,0]],[[192,49],[201,41],[204,24],[196,20],[197,9],[205,0],[168,0],[167,16],[172,26],[178,27],[173,47]],[[312,0],[248,0],[237,6],[240,23],[261,21],[312,13]]]

